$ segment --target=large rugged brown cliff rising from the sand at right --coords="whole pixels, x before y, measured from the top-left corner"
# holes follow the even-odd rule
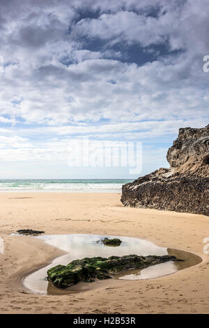
[[[167,160],[169,169],[123,185],[123,205],[209,215],[209,124],[180,129]]]

